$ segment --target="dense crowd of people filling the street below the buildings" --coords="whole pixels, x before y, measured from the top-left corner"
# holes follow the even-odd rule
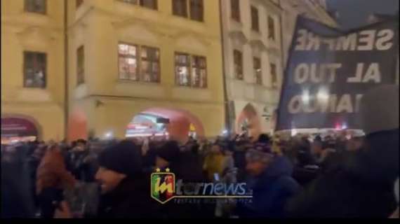
[[[372,91],[362,106],[365,136],[2,145],[1,217],[398,218],[399,88]],[[156,168],[187,183],[246,183],[253,198],[160,204],[150,197]]]

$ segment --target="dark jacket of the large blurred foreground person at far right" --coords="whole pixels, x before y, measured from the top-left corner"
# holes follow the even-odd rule
[[[300,218],[387,218],[396,209],[399,131],[369,135],[366,148],[331,166],[288,207]]]

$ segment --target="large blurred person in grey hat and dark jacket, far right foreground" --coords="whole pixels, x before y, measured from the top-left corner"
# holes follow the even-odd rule
[[[387,218],[396,209],[399,176],[399,86],[364,94],[360,107],[365,144],[321,175],[288,206],[292,217]]]

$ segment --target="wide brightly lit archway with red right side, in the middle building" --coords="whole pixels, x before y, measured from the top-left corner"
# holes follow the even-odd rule
[[[188,111],[166,108],[138,113],[126,131],[126,137],[168,136],[178,141],[186,141],[189,135],[198,139],[205,137],[201,121]]]

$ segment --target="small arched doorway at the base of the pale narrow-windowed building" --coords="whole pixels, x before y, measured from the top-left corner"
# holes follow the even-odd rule
[[[236,121],[236,133],[246,133],[248,137],[257,138],[261,134],[260,118],[257,110],[247,104]]]

